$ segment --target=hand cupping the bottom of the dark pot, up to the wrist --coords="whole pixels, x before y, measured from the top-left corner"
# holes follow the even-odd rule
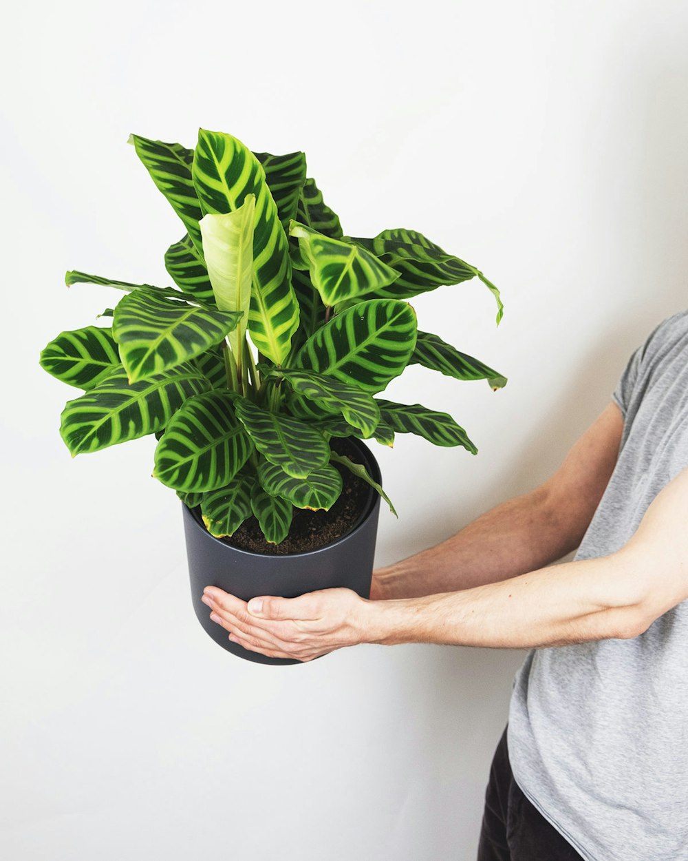
[[[299,598],[263,596],[247,604],[217,586],[201,600],[230,640],[271,658],[313,660],[366,640],[369,602],[350,589],[321,589]]]

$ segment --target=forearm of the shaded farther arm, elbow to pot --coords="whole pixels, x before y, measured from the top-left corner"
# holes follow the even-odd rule
[[[546,488],[509,499],[455,536],[375,572],[372,598],[416,598],[510,579],[578,546],[585,523],[562,523]]]

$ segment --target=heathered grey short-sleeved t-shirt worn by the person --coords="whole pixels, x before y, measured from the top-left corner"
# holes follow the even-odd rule
[[[623,547],[688,468],[688,311],[636,350],[613,397],[617,465],[576,559]],[[688,861],[688,601],[633,640],[528,653],[508,746],[517,784],[587,861]]]

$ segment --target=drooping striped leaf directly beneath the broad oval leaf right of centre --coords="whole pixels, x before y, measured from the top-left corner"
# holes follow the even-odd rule
[[[364,437],[372,437],[378,426],[380,411],[372,394],[361,392],[359,387],[335,380],[316,371],[267,369],[267,376],[284,377],[292,391],[312,401],[325,412],[338,412]],[[312,413],[321,418],[322,413]]]

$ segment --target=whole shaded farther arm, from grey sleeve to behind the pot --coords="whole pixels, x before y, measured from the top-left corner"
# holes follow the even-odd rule
[[[455,536],[373,574],[371,598],[415,598],[516,577],[581,543],[617,462],[624,420],[611,403],[550,480]]]

